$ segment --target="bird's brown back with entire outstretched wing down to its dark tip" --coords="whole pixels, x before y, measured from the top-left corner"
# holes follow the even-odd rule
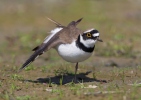
[[[47,43],[42,43],[40,46],[37,46],[33,49],[34,53],[26,60],[26,62],[22,65],[20,70],[24,69],[30,63],[32,63],[38,56],[43,54],[46,50],[55,47],[60,43],[71,43],[73,39],[76,39],[79,34],[81,34],[81,30],[76,28],[76,25],[81,21],[79,19],[77,21],[72,21],[67,27],[62,27],[61,24],[54,22],[56,25],[62,27],[63,29],[56,33]]]

